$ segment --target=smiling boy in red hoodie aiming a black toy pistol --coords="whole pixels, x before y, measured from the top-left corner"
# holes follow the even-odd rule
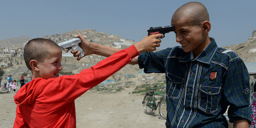
[[[82,34],[81,48],[89,42]],[[49,39],[32,39],[24,47],[24,60],[32,80],[14,96],[17,104],[13,127],[76,127],[75,99],[128,64],[141,52],[160,46],[161,34],[145,37],[140,42],[113,54],[76,75],[59,76],[62,51]],[[84,52],[86,53],[86,51]]]

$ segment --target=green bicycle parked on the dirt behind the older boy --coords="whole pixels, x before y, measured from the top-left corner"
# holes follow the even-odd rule
[[[154,113],[153,110],[156,110],[157,107],[159,107],[159,114],[166,119],[167,116],[167,105],[166,105],[166,97],[164,93],[164,88],[163,86],[156,85],[154,87],[161,87],[163,93],[156,92],[157,89],[150,89],[150,92],[146,93],[146,96],[144,97],[144,100],[142,102],[144,106],[144,110],[146,111],[147,114]],[[157,97],[162,97],[159,102],[156,104],[156,98]]]

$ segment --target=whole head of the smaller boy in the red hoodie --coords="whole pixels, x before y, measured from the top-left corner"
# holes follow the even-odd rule
[[[24,47],[24,60],[32,79],[58,77],[62,70],[61,56],[60,46],[50,39],[32,39]]]

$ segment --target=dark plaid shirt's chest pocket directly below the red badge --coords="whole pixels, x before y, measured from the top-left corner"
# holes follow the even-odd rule
[[[220,102],[220,86],[200,85],[198,108],[207,114],[218,110]]]

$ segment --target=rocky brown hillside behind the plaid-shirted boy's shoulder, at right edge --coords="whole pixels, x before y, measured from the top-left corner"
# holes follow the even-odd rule
[[[256,62],[256,37],[250,38],[242,44],[222,48],[234,51],[244,62]]]

